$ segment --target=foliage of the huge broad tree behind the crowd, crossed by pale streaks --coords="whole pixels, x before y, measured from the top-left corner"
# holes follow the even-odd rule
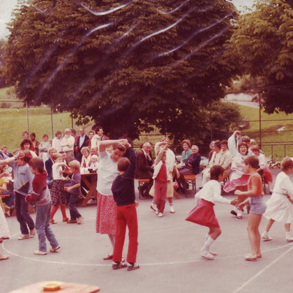
[[[20,1],[4,70],[20,98],[114,137],[156,125],[180,138],[236,72],[223,58],[235,15],[223,0]]]

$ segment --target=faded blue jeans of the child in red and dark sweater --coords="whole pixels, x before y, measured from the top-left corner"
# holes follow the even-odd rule
[[[38,233],[38,250],[47,252],[46,237],[52,248],[59,246],[50,227],[50,213],[52,204],[36,206],[36,232]]]

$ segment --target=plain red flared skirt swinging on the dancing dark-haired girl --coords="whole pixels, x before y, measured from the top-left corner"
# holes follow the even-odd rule
[[[199,204],[192,209],[185,220],[209,228],[220,228],[215,212],[214,204],[206,200],[200,200]]]

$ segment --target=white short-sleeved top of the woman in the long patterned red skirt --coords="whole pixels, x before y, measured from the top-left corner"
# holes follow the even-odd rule
[[[112,194],[112,183],[119,175],[117,165],[118,162],[112,160],[110,153],[107,151],[98,151],[100,163],[98,166],[98,193],[102,195],[113,195]]]

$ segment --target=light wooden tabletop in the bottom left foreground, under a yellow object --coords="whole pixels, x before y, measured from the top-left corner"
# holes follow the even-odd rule
[[[43,290],[43,287],[48,283],[54,283],[54,281],[42,281],[39,283],[34,283],[25,287],[22,287],[17,290],[10,291],[8,293],[40,293],[47,292]],[[100,287],[85,285],[85,284],[76,284],[76,283],[61,283],[60,289],[54,292],[60,293],[95,293],[99,292]]]

